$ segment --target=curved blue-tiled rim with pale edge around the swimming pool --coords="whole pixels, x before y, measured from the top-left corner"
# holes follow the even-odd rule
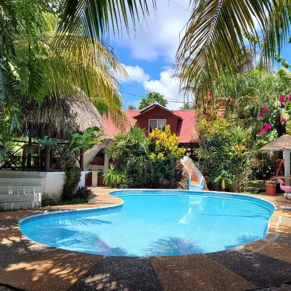
[[[144,194],[144,192],[146,192],[146,194]],[[157,194],[157,192],[158,192],[158,194]],[[177,194],[175,194],[175,193],[177,193]],[[180,193],[180,194],[178,194],[178,193]],[[274,215],[275,210],[276,210],[275,204],[268,201],[268,200],[265,200],[265,199],[260,198],[260,197],[254,197],[254,196],[247,195],[247,194],[238,194],[238,193],[231,193],[231,192],[190,191],[190,190],[176,190],[176,189],[171,189],[171,190],[168,190],[168,189],[157,189],[157,190],[154,190],[154,189],[137,189],[137,190],[135,190],[135,189],[122,189],[122,190],[110,191],[110,192],[108,192],[108,194],[115,196],[115,197],[119,197],[119,198],[122,196],[161,195],[161,194],[164,194],[164,195],[184,195],[184,196],[194,195],[194,196],[214,197],[214,198],[215,197],[220,198],[221,196],[225,196],[226,198],[236,199],[236,200],[241,200],[241,199],[238,199],[239,197],[247,198],[244,200],[246,200],[248,202],[259,204],[260,206],[268,208],[269,210],[272,211],[272,214],[270,215],[270,218],[268,221],[266,235],[269,233],[269,224],[270,224],[271,218]],[[122,198],[120,198],[120,199],[122,200]],[[258,201],[258,202],[256,202],[256,201]],[[108,211],[108,212],[106,212],[106,214],[108,214],[110,212],[116,213],[116,212],[119,212],[120,209],[122,210],[123,204],[124,204],[124,201],[122,200],[121,203],[116,203],[116,204],[109,205],[109,206],[91,207],[91,208],[87,208],[87,209],[74,209],[74,210],[56,210],[56,211],[51,211],[51,212],[33,214],[33,215],[28,216],[28,217],[24,217],[24,218],[19,219],[18,226],[19,226],[19,229],[21,231],[22,225],[29,223],[31,221],[34,221],[34,220],[38,220],[38,219],[42,219],[42,218],[44,219],[47,217],[58,217],[58,216],[65,217],[65,216],[70,216],[70,215],[76,215],[78,213],[84,214],[84,213],[90,213],[90,212],[101,212],[103,210]],[[22,231],[21,231],[21,233],[22,233]],[[41,245],[52,247],[52,248],[58,248],[58,247],[54,247],[54,246],[44,244],[41,242],[33,241],[32,239],[30,239],[29,237],[27,237],[23,233],[22,233],[22,235],[32,242],[39,243]],[[240,245],[237,247],[243,247],[244,245]],[[237,248],[237,247],[235,247],[235,248]],[[69,251],[77,252],[77,251],[72,251],[72,250],[69,250]],[[226,250],[222,250],[219,252],[224,252],[224,251],[226,251]],[[92,254],[92,255],[97,255],[97,254]],[[98,255],[98,256],[100,256],[100,255]],[[103,256],[103,255],[101,255],[101,256]],[[188,256],[188,255],[186,255],[186,256]],[[135,258],[137,258],[137,257],[135,257]]]

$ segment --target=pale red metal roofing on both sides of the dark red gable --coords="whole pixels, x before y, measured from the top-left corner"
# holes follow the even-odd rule
[[[136,123],[136,119],[134,116],[140,114],[139,110],[124,110],[125,115],[129,121],[129,124],[125,131],[129,130],[130,125],[134,125]],[[172,113],[178,115],[182,118],[181,128],[179,132],[179,142],[180,143],[195,143],[198,139],[198,134],[196,129],[196,113],[194,110],[173,110]],[[159,119],[159,116],[157,116]],[[105,127],[105,134],[108,137],[113,137],[113,135],[119,133],[121,130],[118,129],[111,119],[103,117],[103,124]]]

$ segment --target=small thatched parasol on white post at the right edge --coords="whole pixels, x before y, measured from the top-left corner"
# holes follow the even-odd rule
[[[275,141],[263,146],[259,149],[260,153],[269,151],[282,151],[284,154],[284,177],[285,185],[290,186],[290,150],[291,150],[291,136],[288,134],[282,135],[275,139]]]

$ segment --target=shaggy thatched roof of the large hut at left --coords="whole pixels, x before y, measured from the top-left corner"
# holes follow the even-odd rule
[[[50,123],[51,137],[67,139],[68,131],[83,132],[97,126],[104,132],[102,117],[81,89],[67,97],[46,97],[41,104],[34,101],[21,104],[23,131],[34,129],[37,137],[46,134]]]

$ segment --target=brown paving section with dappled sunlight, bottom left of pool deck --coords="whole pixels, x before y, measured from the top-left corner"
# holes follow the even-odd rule
[[[0,282],[25,290],[63,291],[85,275],[101,256],[53,249],[0,269]]]

